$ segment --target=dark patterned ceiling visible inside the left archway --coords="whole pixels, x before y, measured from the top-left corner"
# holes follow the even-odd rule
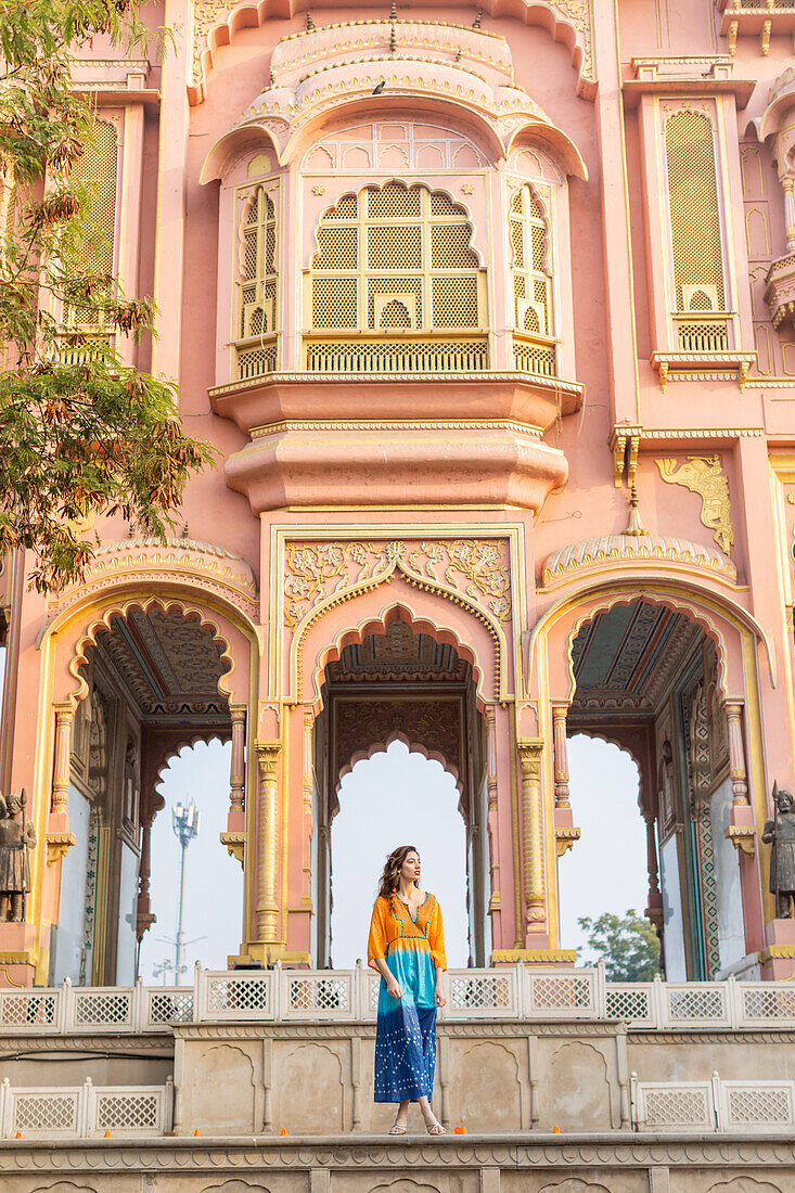
[[[226,712],[218,680],[227,670],[209,629],[178,610],[115,617],[97,635],[100,650],[144,718]]]

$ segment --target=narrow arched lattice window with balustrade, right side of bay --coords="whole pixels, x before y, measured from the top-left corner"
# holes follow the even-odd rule
[[[519,369],[551,377],[556,359],[548,230],[543,209],[530,186],[522,186],[513,197],[510,233],[514,360]]]

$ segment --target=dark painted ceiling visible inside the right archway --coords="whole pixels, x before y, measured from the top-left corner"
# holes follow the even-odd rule
[[[572,645],[572,709],[651,712],[703,635],[684,613],[636,601],[597,613]]]

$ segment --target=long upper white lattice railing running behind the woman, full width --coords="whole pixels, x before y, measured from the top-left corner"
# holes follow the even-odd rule
[[[192,985],[0,990],[0,1034],[164,1032],[174,1024],[372,1021],[378,975],[353,970],[202,970]],[[791,982],[605,982],[593,969],[503,965],[444,976],[448,1020],[611,1019],[636,1030],[795,1027]]]

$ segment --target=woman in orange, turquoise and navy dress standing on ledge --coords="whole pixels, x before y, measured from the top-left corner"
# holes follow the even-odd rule
[[[376,1028],[375,1100],[399,1102],[389,1135],[406,1135],[408,1104],[419,1102],[429,1135],[444,1135],[431,1109],[436,1069],[436,1008],[443,1007],[442,911],[419,889],[413,845],[387,858],[372,908],[368,963],[381,973]]]

